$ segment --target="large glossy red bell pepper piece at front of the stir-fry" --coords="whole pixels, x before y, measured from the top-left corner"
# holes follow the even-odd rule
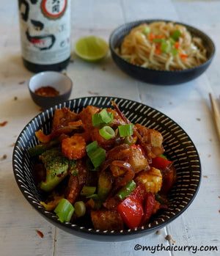
[[[136,189],[117,206],[117,211],[122,216],[123,221],[131,229],[139,227],[144,215],[143,202],[146,198],[146,191],[142,186]]]

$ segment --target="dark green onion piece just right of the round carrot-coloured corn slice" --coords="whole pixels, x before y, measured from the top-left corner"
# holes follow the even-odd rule
[[[106,160],[106,150],[104,150],[101,147],[98,147],[97,142],[92,142],[89,145],[87,145],[86,150],[87,155],[89,156],[95,168],[99,167],[100,164]]]

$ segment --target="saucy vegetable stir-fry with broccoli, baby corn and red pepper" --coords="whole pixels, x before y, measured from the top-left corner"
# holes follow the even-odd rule
[[[40,202],[60,222],[89,222],[97,230],[142,227],[161,208],[176,180],[160,132],[132,124],[114,109],[56,109],[51,134],[35,132],[29,148]],[[87,225],[88,223],[84,223]]]

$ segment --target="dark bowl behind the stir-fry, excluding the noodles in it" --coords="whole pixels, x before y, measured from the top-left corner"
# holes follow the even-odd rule
[[[131,23],[125,23],[124,25],[118,27],[111,33],[109,39],[109,47],[111,50],[111,56],[114,62],[117,64],[120,69],[127,73],[133,78],[139,79],[141,81],[150,83],[150,84],[161,84],[161,85],[171,85],[171,84],[181,84],[187,81],[191,81],[194,78],[200,76],[210,65],[210,62],[213,59],[215,53],[215,45],[213,41],[208,37],[207,34],[201,32],[199,29],[195,29],[192,26],[188,26],[184,23],[177,22],[183,26],[186,26],[188,31],[192,36],[202,38],[203,45],[207,49],[208,60],[197,67],[192,67],[187,70],[153,70],[151,68],[141,67],[139,65],[131,64],[130,62],[122,59],[122,57],[117,54],[116,48],[120,48],[122,40],[124,37],[131,32],[136,26],[139,26],[142,23],[152,23],[154,21],[164,21],[164,20],[143,20],[143,21],[134,21]],[[169,22],[169,21],[165,21]]]

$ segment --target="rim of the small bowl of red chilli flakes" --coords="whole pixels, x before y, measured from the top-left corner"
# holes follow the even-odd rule
[[[32,91],[32,89],[30,88],[30,82],[32,80],[32,78],[34,78],[34,76],[39,76],[41,75],[42,73],[59,73],[59,75],[67,78],[71,85],[70,85],[70,89],[67,89],[65,92],[63,92],[62,94],[60,95],[56,95],[56,96],[50,96],[50,97],[45,97],[45,96],[42,96],[42,95],[38,95],[37,93],[35,93],[34,91]],[[47,71],[42,71],[42,72],[39,72],[39,73],[36,73],[34,74],[34,76],[32,76],[31,78],[29,78],[29,83],[28,83],[28,87],[29,87],[29,92],[31,92],[32,95],[34,95],[34,97],[37,97],[37,98],[41,98],[41,99],[45,99],[45,100],[52,100],[52,99],[59,99],[59,98],[62,98],[64,95],[68,94],[69,92],[72,91],[73,89],[73,80],[70,78],[70,76],[67,76],[65,75],[64,73],[61,73],[61,72],[58,72],[58,71],[53,71],[53,70],[47,70]],[[53,85],[51,84],[50,85],[51,87],[53,87]],[[44,86],[43,86],[44,87]],[[60,85],[60,87],[62,87],[62,85]]]

